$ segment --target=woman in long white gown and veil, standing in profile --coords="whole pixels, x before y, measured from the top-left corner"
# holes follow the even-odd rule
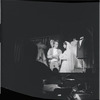
[[[72,60],[72,51],[71,44],[67,41],[63,43],[63,47],[66,49],[63,54],[60,55],[62,60],[62,65],[60,73],[70,73],[73,71],[73,60]]]

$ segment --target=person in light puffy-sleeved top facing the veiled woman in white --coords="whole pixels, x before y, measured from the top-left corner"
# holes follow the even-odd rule
[[[58,41],[54,41],[52,48],[50,48],[47,52],[47,58],[49,59],[49,66],[50,69],[53,71],[54,68],[59,70],[59,66],[61,64],[61,61],[59,59],[60,54],[62,54],[62,51],[58,49]]]

